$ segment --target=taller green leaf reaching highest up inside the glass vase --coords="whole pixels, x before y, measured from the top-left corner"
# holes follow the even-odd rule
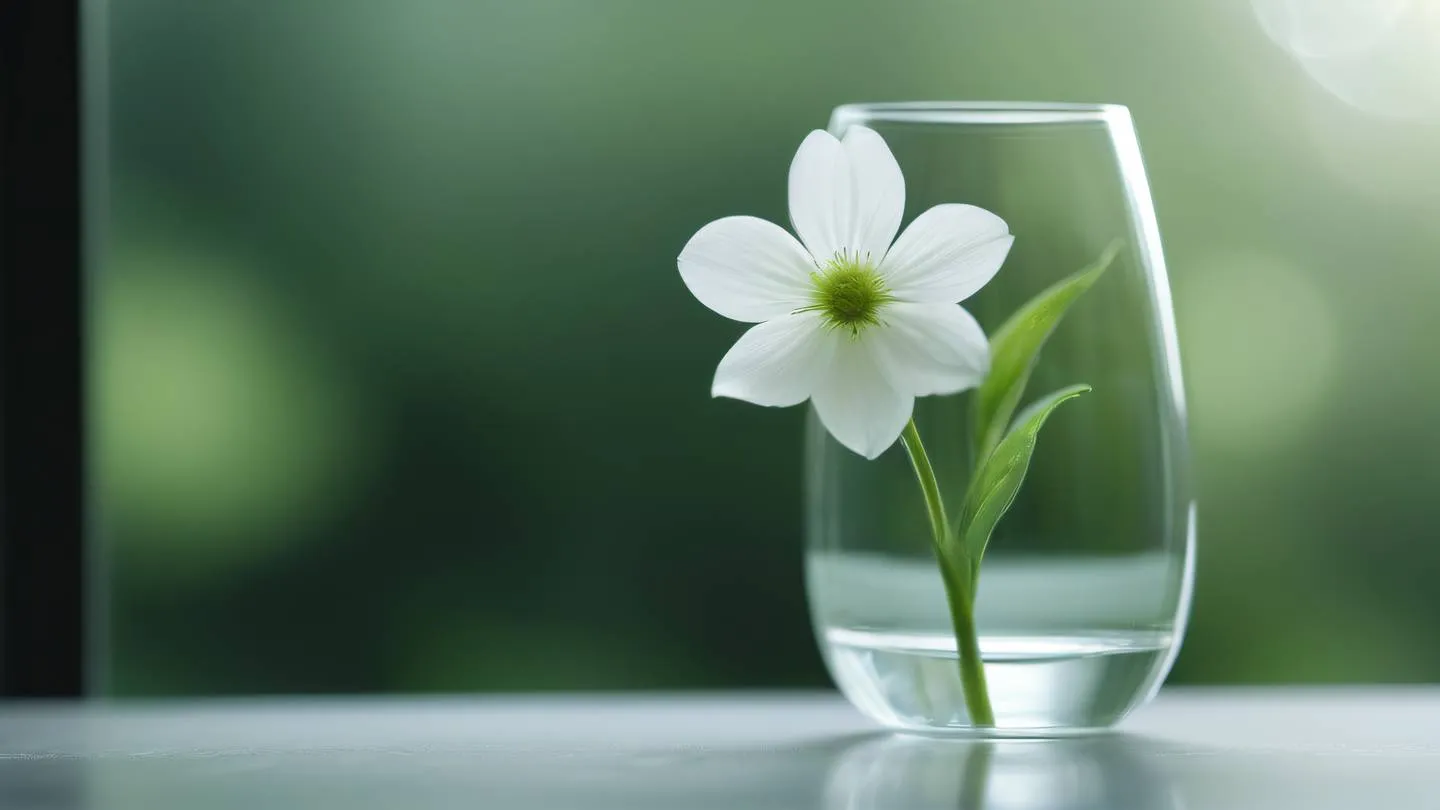
[[[1080,272],[1057,281],[1025,303],[991,337],[991,372],[975,396],[975,458],[984,463],[999,444],[1009,418],[1025,395],[1040,349],[1070,304],[1084,294],[1120,252],[1116,239],[1100,258]]]

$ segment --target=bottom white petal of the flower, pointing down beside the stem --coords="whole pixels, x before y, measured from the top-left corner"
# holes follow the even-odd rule
[[[870,334],[851,339],[832,330],[835,359],[811,396],[821,424],[840,444],[876,458],[900,438],[914,398],[896,391],[881,373]]]

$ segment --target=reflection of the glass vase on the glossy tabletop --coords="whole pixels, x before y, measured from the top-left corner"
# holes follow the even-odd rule
[[[887,736],[837,758],[827,810],[1159,810],[1179,807],[1126,735],[949,741]]]

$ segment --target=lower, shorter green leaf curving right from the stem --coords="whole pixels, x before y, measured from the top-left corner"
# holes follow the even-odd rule
[[[1089,385],[1071,385],[1037,399],[1015,418],[1015,427],[1005,434],[975,474],[969,490],[965,491],[960,519],[955,525],[955,540],[949,549],[950,555],[959,553],[960,559],[966,561],[972,581],[979,571],[981,558],[985,556],[991,533],[1015,503],[1020,486],[1025,483],[1025,471],[1030,470],[1030,457],[1035,453],[1041,425],[1061,402],[1087,391]]]

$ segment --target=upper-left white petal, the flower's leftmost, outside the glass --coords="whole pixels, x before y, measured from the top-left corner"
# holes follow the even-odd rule
[[[755,216],[706,225],[675,264],[690,293],[727,319],[756,323],[811,303],[815,262],[795,236]]]

